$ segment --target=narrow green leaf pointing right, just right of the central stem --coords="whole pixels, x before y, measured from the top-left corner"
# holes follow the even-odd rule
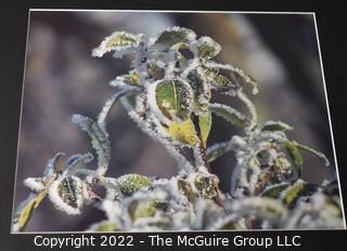
[[[245,128],[247,126],[247,118],[234,108],[222,104],[209,104],[209,110],[215,115],[226,119],[233,126]]]

